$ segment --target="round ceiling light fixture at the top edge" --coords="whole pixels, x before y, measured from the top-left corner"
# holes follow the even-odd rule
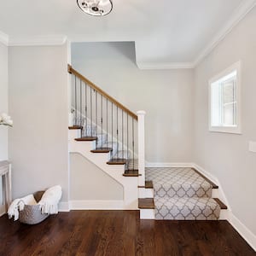
[[[84,13],[93,16],[108,15],[113,9],[111,0],[77,0]]]

